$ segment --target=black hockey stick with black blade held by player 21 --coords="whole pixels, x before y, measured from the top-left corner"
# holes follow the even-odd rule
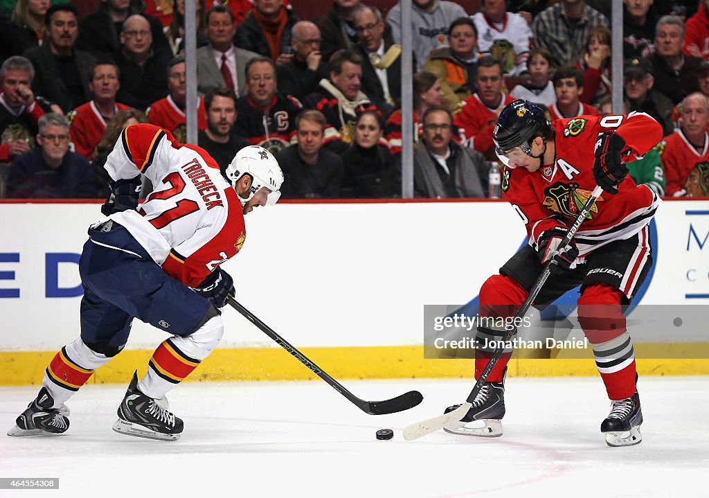
[[[396,398],[384,399],[384,401],[379,402],[368,402],[364,401],[364,399],[359,399],[358,397],[354,396],[354,394],[352,394],[350,391],[348,391],[345,386],[340,384],[340,382],[337,382],[337,380],[333,379],[333,377],[330,377],[327,372],[325,372],[323,369],[318,367],[318,365],[313,363],[313,361],[306,357],[306,355],[303,355],[303,353],[294,348],[294,346],[292,346],[288,341],[279,336],[272,328],[257,319],[251,313],[251,311],[247,310],[244,306],[238,303],[238,301],[235,301],[235,299],[229,297],[227,298],[227,302],[230,306],[233,307],[233,309],[235,309],[247,319],[252,321],[255,326],[261,329],[263,333],[265,333],[267,336],[276,341],[281,346],[281,348],[284,348],[284,350],[291,353],[291,355],[294,355],[299,362],[303,363],[303,365],[306,365],[306,367],[308,367],[313,373],[318,375],[320,379],[330,384],[335,389],[335,391],[339,392],[340,394],[342,394],[342,396],[349,399],[350,402],[357,405],[357,408],[359,408],[360,410],[370,415],[395,414],[398,411],[404,411],[413,408],[414,406],[423,401],[423,396],[418,391],[409,391],[405,394],[401,394],[401,396],[397,396]]]

